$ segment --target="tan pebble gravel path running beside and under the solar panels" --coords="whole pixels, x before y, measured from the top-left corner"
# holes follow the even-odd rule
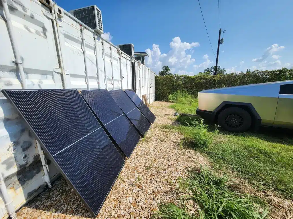
[[[174,121],[171,114],[175,111],[168,108],[170,104],[151,104],[156,121],[126,161],[97,218],[150,218],[160,202],[174,202],[181,196],[176,193],[177,179],[185,176],[188,167],[207,163],[194,150],[180,149],[182,135],[159,128]],[[63,177],[54,182],[52,189],[45,190],[21,208],[17,216],[91,218]]]

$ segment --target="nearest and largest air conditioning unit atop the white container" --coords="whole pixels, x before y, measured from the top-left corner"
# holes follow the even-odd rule
[[[74,17],[83,22],[85,25],[103,34],[103,20],[101,10],[96,6],[88,6],[69,11]]]

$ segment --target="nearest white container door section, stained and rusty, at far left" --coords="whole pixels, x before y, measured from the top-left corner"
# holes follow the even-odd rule
[[[34,0],[8,1],[8,5],[27,88],[62,88],[49,9]],[[13,63],[15,57],[2,9],[0,13],[0,89],[21,89],[18,67]],[[13,205],[18,209],[38,189],[42,189],[44,173],[32,133],[2,93],[0,114],[1,172]],[[52,165],[49,168],[50,176],[57,173]],[[0,205],[4,206],[3,202]]]

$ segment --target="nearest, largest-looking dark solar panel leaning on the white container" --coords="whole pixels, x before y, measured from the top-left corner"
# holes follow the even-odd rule
[[[88,210],[97,215],[124,160],[76,89],[2,90]]]

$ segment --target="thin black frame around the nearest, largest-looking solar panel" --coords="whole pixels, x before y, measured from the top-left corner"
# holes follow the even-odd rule
[[[42,146],[42,149],[45,151],[45,153],[51,158],[50,160],[53,162],[53,164],[57,167],[57,169],[60,171],[60,173],[63,175],[63,177],[65,178],[65,180],[69,183],[69,185],[71,185],[72,189],[74,190],[75,194],[79,197],[79,199],[83,202],[83,204],[85,205],[85,207],[88,209],[89,212],[91,212],[92,215],[94,215],[95,217],[98,215],[100,209],[102,208],[105,199],[108,197],[113,185],[115,184],[120,172],[122,171],[124,165],[125,165],[125,161],[122,158],[122,163],[123,165],[121,166],[120,170],[118,171],[118,174],[115,178],[115,180],[113,181],[112,185],[109,188],[109,191],[107,192],[107,194],[105,195],[103,201],[101,202],[100,207],[98,208],[97,212],[95,213],[91,207],[88,205],[88,203],[86,203],[86,201],[84,200],[84,198],[82,197],[82,195],[79,193],[79,191],[76,189],[75,185],[71,182],[71,180],[67,177],[66,173],[62,170],[62,168],[59,166],[59,164],[55,161],[54,159],[54,155],[56,154],[51,154],[49,152],[49,150],[47,149],[47,147],[45,147],[45,144],[43,143],[43,141],[39,138],[39,136],[37,135],[37,133],[35,132],[34,128],[30,125],[30,122],[26,119],[26,117],[24,116],[23,112],[17,107],[17,105],[15,104],[15,102],[11,99],[10,95],[8,95],[7,91],[47,91],[47,90],[76,90],[77,89],[25,89],[25,90],[17,90],[17,89],[3,89],[2,93],[4,94],[4,96],[10,101],[10,103],[17,109],[18,113],[22,116],[22,118],[24,119],[24,121],[27,123],[29,130],[31,131],[31,133],[33,133],[35,139],[40,143],[40,145]],[[77,91],[78,92],[78,91]],[[81,99],[84,101],[84,98],[81,97]],[[88,105],[86,104],[86,102],[84,101],[86,107],[88,107]],[[91,109],[88,108],[88,110],[92,113]],[[93,114],[93,113],[92,113]],[[93,117],[95,117],[95,115],[93,114]],[[99,124],[99,122],[97,121],[97,123]],[[100,125],[100,124],[99,124]],[[101,125],[100,125],[101,128]],[[98,128],[99,129],[99,128]],[[101,128],[101,130],[103,130],[103,128]],[[95,130],[96,131],[96,130]],[[94,132],[94,131],[93,131]],[[89,133],[91,134],[91,133]],[[88,135],[89,135],[88,134]],[[106,134],[106,133],[105,133]],[[108,135],[106,134],[106,136],[108,137]],[[86,137],[86,136],[85,136]],[[109,139],[109,138],[108,138]],[[80,139],[81,140],[81,139]],[[112,141],[109,139],[109,141],[112,143]],[[113,143],[112,143],[113,144]],[[116,149],[116,148],[115,148]],[[116,149],[117,150],[117,149]],[[63,150],[62,150],[63,151]],[[60,152],[62,152],[60,151]],[[58,152],[59,153],[59,152]],[[57,153],[57,154],[58,154]],[[119,154],[119,156],[121,157],[121,155]]]

